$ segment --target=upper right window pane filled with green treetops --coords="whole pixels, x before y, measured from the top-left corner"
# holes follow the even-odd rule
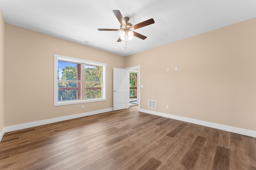
[[[102,81],[102,67],[84,65],[85,81]]]

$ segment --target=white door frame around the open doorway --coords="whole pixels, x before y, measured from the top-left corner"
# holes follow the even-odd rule
[[[136,70],[136,72],[138,72],[138,82],[137,82],[137,84],[138,84],[138,86],[137,86],[137,95],[138,95],[138,108],[139,108],[139,111],[140,111],[140,65],[138,65],[138,66],[131,66],[131,67],[126,67],[125,68],[126,70],[128,70],[127,71],[127,78],[128,78],[128,87],[130,87],[130,71],[132,71],[132,70],[134,70],[134,69],[138,69],[138,70]],[[127,88],[127,92],[128,92],[128,99],[127,99],[127,108],[129,108],[130,107],[130,88]]]

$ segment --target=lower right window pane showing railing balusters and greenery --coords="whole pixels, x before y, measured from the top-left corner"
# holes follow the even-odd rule
[[[85,83],[85,99],[102,98],[102,83]]]

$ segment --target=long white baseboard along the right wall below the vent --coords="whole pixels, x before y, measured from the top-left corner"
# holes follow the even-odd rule
[[[241,129],[241,128],[238,128],[238,127],[232,127],[232,126],[227,126],[227,125],[221,125],[221,124],[218,124],[218,123],[212,123],[212,122],[208,122],[208,121],[191,119],[191,118],[187,118],[187,117],[181,117],[181,116],[176,116],[176,115],[171,115],[171,114],[167,114],[167,113],[161,113],[161,112],[151,111],[151,110],[146,110],[146,109],[139,109],[139,111],[144,112],[144,113],[149,113],[149,114],[152,114],[152,115],[167,117],[167,118],[170,118],[170,119],[185,121],[185,122],[188,122],[188,123],[194,123],[194,124],[197,124],[197,125],[212,127],[214,129],[220,129],[220,130],[224,130],[224,131],[228,131],[228,132],[238,133],[238,134],[241,134],[241,135],[256,137],[256,131]]]

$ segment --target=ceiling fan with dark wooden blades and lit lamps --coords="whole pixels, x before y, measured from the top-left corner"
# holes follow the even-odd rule
[[[153,20],[153,18],[143,21],[141,23],[137,23],[135,25],[132,25],[131,23],[129,23],[129,17],[124,17],[122,16],[121,12],[119,10],[113,10],[116,18],[118,19],[118,21],[120,22],[120,29],[104,29],[104,28],[98,28],[99,31],[120,31],[120,37],[117,40],[117,42],[121,42],[122,40],[124,40],[125,38],[127,38],[128,40],[131,40],[133,35],[135,37],[138,37],[140,39],[146,39],[147,37],[144,35],[141,35],[140,33],[137,33],[135,31],[133,31],[134,29],[138,29],[147,25],[150,25],[152,23],[155,23],[155,21]]]

